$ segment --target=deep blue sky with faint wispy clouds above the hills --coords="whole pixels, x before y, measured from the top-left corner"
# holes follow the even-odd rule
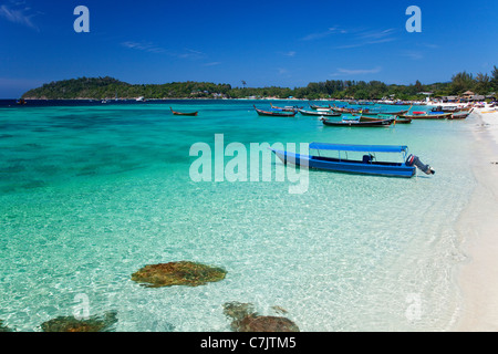
[[[76,6],[90,33],[76,33]],[[422,32],[408,33],[409,6]],[[0,0],[0,97],[45,82],[409,84],[498,65],[498,1]]]

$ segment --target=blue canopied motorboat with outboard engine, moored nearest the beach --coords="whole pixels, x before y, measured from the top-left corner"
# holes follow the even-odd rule
[[[322,169],[339,173],[378,175],[388,177],[411,178],[416,174],[418,167],[426,175],[434,175],[434,169],[424,165],[418,157],[408,155],[407,146],[392,145],[345,145],[311,143],[310,150],[317,150],[317,155],[300,155],[284,150],[271,150],[284,163],[312,169]],[[320,152],[335,152],[334,157],[320,155]],[[363,155],[361,159],[349,158],[350,155]],[[378,160],[376,153],[401,154],[403,162]]]

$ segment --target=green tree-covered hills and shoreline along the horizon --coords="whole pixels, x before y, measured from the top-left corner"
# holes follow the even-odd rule
[[[230,84],[209,82],[173,82],[166,84],[128,84],[113,77],[79,77],[44,84],[30,90],[23,98],[74,100],[74,98],[354,98],[354,100],[423,100],[424,93],[433,96],[460,95],[466,91],[488,95],[498,91],[498,67],[494,66],[490,75],[473,75],[460,72],[452,81],[422,84],[416,81],[411,85],[385,84],[381,81],[328,80],[311,82],[304,87],[232,87]]]

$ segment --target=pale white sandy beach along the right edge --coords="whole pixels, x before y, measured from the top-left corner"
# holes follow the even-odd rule
[[[450,331],[498,331],[498,113],[488,111],[475,111],[477,186],[457,222],[467,261],[456,274],[463,304]]]

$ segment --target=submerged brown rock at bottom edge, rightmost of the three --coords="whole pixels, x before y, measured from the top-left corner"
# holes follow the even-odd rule
[[[224,313],[234,320],[231,330],[235,332],[299,332],[291,320],[259,315],[250,303],[228,302],[224,304]]]

